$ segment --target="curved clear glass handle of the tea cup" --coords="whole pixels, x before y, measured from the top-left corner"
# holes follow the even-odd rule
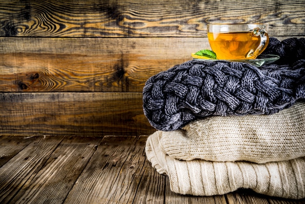
[[[268,33],[266,30],[261,29],[261,28],[254,28],[252,31],[252,35],[253,36],[260,36],[261,41],[260,44],[258,45],[258,47],[256,48],[256,50],[251,49],[246,58],[247,59],[252,59],[252,58],[256,58],[257,56],[259,56],[267,47],[268,45],[268,41],[269,41],[269,37],[268,37]]]

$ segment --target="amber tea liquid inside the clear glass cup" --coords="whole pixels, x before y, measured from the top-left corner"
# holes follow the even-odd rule
[[[212,50],[219,60],[244,60],[248,52],[260,44],[260,37],[252,32],[208,33]],[[261,51],[263,52],[263,50]],[[255,59],[256,56],[248,59]]]

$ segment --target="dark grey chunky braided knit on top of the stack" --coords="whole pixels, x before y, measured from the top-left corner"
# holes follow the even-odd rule
[[[163,131],[207,116],[273,114],[305,99],[305,39],[270,38],[264,54],[273,64],[187,61],[152,76],[143,88],[143,110]]]

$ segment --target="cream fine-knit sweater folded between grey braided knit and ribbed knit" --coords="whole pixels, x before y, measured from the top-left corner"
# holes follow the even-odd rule
[[[305,156],[305,102],[272,115],[210,117],[182,130],[157,131],[174,159],[266,163]]]

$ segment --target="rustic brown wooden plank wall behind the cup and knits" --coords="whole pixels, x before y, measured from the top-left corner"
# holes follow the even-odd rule
[[[144,83],[225,21],[305,37],[305,0],[0,0],[0,135],[151,134]]]

